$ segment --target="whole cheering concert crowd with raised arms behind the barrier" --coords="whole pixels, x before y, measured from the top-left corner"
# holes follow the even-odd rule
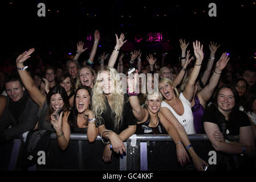
[[[207,59],[205,45],[196,40],[190,52],[182,39],[178,65],[165,60],[165,54],[161,61],[151,54],[142,61],[141,50],[133,50],[127,62],[120,53],[127,40],[124,34],[115,36],[111,56],[104,52],[100,64],[95,61],[96,30],[88,60],[79,60],[87,49],[79,42],[74,58],[62,67],[41,65],[32,71],[25,64],[36,51],[30,48],[17,57],[17,72],[0,71],[0,142],[46,130],[56,133],[59,148],[66,150],[71,133],[86,133],[89,142],[99,135],[107,163],[112,152],[126,151],[123,142],[133,134],[168,134],[178,163],[183,167],[192,159],[197,170],[204,170],[209,164],[196,154],[188,135],[206,134],[226,164],[216,170],[237,169],[235,155],[255,159],[254,68],[235,70],[226,52],[215,57],[220,47],[215,42],[209,44]]]

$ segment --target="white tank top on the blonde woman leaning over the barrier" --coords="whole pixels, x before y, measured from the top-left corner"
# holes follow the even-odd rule
[[[181,125],[184,127],[186,134],[196,134],[196,130],[194,130],[194,117],[191,110],[191,104],[186,98],[183,96],[182,92],[180,93],[180,100],[184,107],[184,113],[182,115],[178,115],[173,108],[167,104],[165,101],[162,101],[161,107],[167,107],[173,115],[178,119]]]

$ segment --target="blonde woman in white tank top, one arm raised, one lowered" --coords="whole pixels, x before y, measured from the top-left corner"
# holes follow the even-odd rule
[[[204,166],[208,164],[202,160],[194,151],[189,142],[188,134],[195,134],[193,114],[190,106],[190,101],[193,98],[194,85],[196,84],[197,76],[200,72],[204,53],[200,42],[194,43],[194,55],[196,56],[196,63],[194,69],[189,77],[188,84],[183,93],[178,94],[177,88],[173,82],[168,78],[161,78],[159,81],[159,90],[164,96],[162,101],[160,113],[165,117],[178,131],[182,143],[184,143],[186,150],[188,150],[192,157],[193,163],[198,170],[203,170]]]

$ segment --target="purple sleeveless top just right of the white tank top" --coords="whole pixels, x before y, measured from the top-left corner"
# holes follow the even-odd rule
[[[202,133],[202,116],[204,115],[205,108],[200,104],[197,95],[194,97],[194,106],[191,108],[194,117],[194,129],[197,134]]]

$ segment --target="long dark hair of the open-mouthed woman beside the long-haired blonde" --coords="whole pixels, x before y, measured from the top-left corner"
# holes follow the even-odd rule
[[[68,115],[68,124],[70,127],[78,127],[78,108],[76,107],[76,94],[78,93],[78,90],[87,90],[89,95],[90,95],[90,103],[92,103],[92,89],[90,86],[80,86],[74,96],[74,106],[73,109],[71,110],[70,115]],[[91,104],[89,105],[89,109],[91,109]]]

